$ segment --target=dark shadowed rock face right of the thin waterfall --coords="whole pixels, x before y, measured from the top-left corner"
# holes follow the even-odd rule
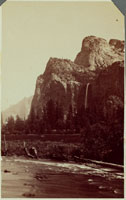
[[[124,106],[124,62],[115,62],[102,70],[90,85],[89,107],[109,119]]]

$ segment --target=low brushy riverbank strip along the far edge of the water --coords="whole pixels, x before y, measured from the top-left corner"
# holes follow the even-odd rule
[[[53,139],[56,135],[51,136]],[[43,141],[43,138],[39,137],[39,139],[32,138],[31,136],[27,136],[26,139],[21,139],[22,135],[18,138],[12,137],[11,140],[6,140],[6,145],[4,140],[2,140],[2,156],[26,156],[26,150],[29,151],[32,147],[34,147],[37,151],[37,156],[40,159],[52,159],[52,160],[58,160],[58,161],[75,161],[78,163],[83,163],[88,159],[88,162],[90,160],[96,160],[96,161],[103,161],[108,163],[113,163],[116,165],[122,165],[123,163],[119,161],[119,158],[114,158],[113,160],[113,154],[114,151],[111,151],[110,149],[105,148],[99,148],[97,145],[97,151],[93,147],[85,147],[83,142],[78,143],[77,141],[75,143],[69,143],[65,141],[53,141],[53,140],[47,140]],[[37,137],[37,136],[36,136]],[[47,136],[49,137],[49,135]],[[60,135],[58,135],[60,137]],[[73,139],[76,139],[74,136],[67,136],[67,139],[70,139],[69,137],[73,137]],[[52,139],[51,138],[51,139]],[[66,137],[64,136],[66,139]],[[8,138],[7,138],[8,139]],[[48,138],[49,139],[49,138]],[[59,139],[59,138],[57,138]],[[25,141],[25,147],[24,147],[24,141]],[[116,154],[115,154],[116,155]],[[114,156],[115,156],[114,155]],[[122,157],[122,155],[120,156]],[[122,158],[121,158],[122,159]]]

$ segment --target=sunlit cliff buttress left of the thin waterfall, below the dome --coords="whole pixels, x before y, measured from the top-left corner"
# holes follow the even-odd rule
[[[70,104],[76,106],[80,88],[95,76],[93,72],[70,60],[50,58],[45,73],[37,78],[32,109],[41,115],[45,104],[53,99],[67,111]]]

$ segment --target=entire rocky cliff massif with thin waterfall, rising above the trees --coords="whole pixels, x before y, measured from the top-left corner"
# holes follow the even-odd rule
[[[69,106],[90,107],[102,111],[111,100],[123,104],[124,41],[109,43],[95,36],[86,37],[75,61],[50,58],[44,74],[37,78],[31,110],[42,115],[52,99]],[[97,109],[98,108],[98,109]]]

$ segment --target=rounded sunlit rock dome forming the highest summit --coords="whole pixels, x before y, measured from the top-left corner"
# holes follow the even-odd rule
[[[91,70],[104,68],[116,61],[124,60],[124,41],[110,40],[95,36],[86,37],[75,63]]]

